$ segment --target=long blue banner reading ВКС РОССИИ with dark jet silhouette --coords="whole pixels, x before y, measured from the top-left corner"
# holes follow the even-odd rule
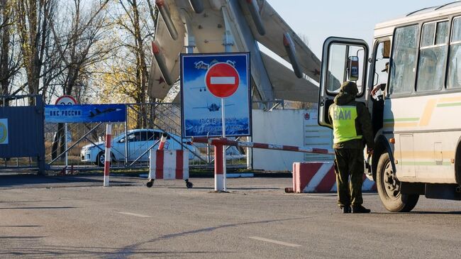
[[[123,122],[126,121],[125,104],[46,105],[45,122]]]

